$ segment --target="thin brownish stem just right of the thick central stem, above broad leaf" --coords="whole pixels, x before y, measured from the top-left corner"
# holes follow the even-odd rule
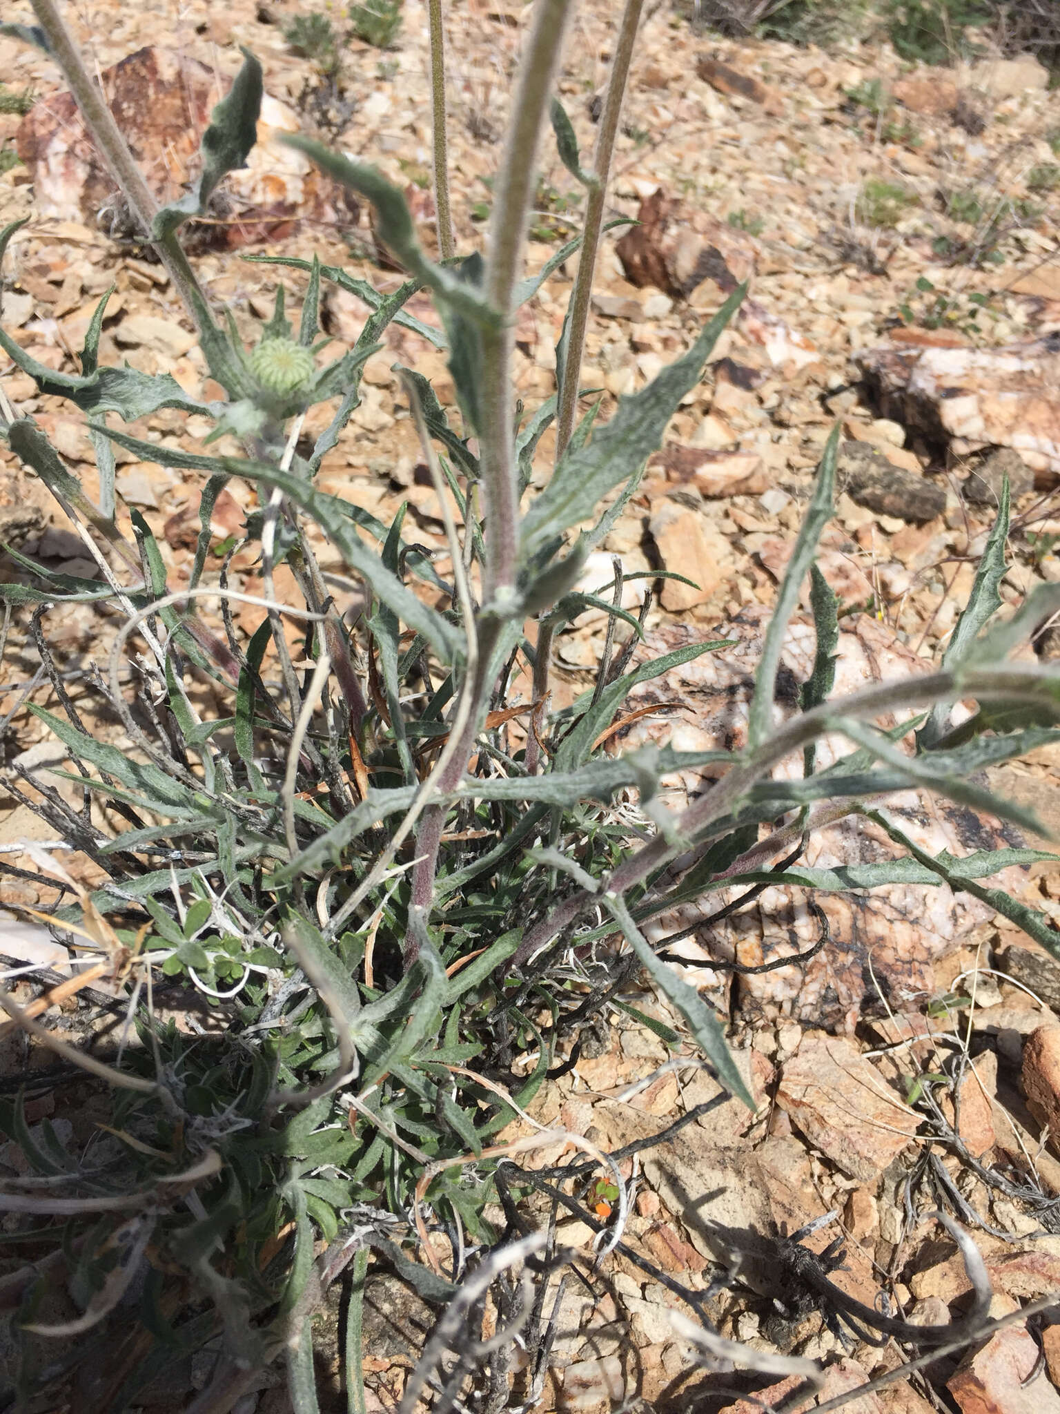
[[[596,271],[596,253],[599,250],[599,235],[603,225],[603,204],[608,195],[608,178],[611,177],[611,158],[615,153],[615,137],[618,136],[619,117],[622,116],[622,99],[626,95],[629,79],[629,65],[633,58],[633,41],[643,0],[626,0],[619,25],[618,44],[615,47],[615,62],[611,66],[611,79],[603,99],[603,112],[596,134],[596,151],[592,158],[594,184],[589,187],[585,202],[585,229],[581,238],[581,255],[578,257],[578,274],[571,294],[571,322],[567,335],[567,355],[563,365],[563,392],[560,396],[560,411],[555,419],[555,460],[563,457],[567,443],[574,431],[574,419],[578,410],[578,379],[581,376],[581,361],[585,352],[585,328],[589,320],[589,300],[592,297],[592,277]]]

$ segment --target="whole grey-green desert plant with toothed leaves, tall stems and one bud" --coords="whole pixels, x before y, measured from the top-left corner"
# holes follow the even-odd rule
[[[644,1015],[646,1024],[676,1049],[691,1038],[725,1087],[748,1100],[718,1017],[656,956],[646,921],[681,901],[734,885],[756,889],[763,880],[810,889],[946,881],[987,899],[1060,953],[1042,915],[982,882],[1008,864],[1042,858],[1039,851],[933,858],[878,805],[913,783],[1036,824],[989,796],[977,772],[1060,737],[1052,725],[1060,715],[1056,674],[1006,662],[1057,605],[1057,591],[1040,591],[1006,624],[991,626],[1006,571],[1003,495],[972,597],[938,669],[831,697],[835,602],[813,561],[831,515],[835,434],[766,633],[746,751],[734,756],[666,747],[608,755],[602,744],[633,686],[722,643],[708,641],[630,669],[642,621],[619,607],[620,568],[613,587],[587,594],[575,584],[745,293],[736,290],[688,351],[643,392],[620,400],[609,421],[596,424],[596,404],[579,416],[599,211],[637,0],[629,0],[622,18],[591,171],[582,168],[565,113],[551,107],[561,157],[589,194],[581,240],[522,279],[537,148],[567,14],[564,0],[538,0],[485,259],[431,262],[416,242],[400,191],[379,171],[291,137],[324,171],[375,204],[380,236],[408,279],[380,296],[315,257],[257,257],[298,271],[302,297],[295,337],[278,286],[274,312],[252,348],[235,325],[216,322],[178,232],[253,144],[257,62],[246,57],[213,112],[196,189],[154,211],[52,0],[34,0],[34,8],[130,205],[174,271],[225,399],[204,403],[168,375],[102,366],[106,296],[76,373],[42,366],[0,329],[0,346],[40,390],[88,417],[100,486],[93,503],[33,417],[14,417],[3,404],[0,431],[54,492],[99,567],[96,578],[44,575],[33,560],[16,556],[20,580],[0,585],[6,639],[25,625],[54,691],[55,710],[37,701],[30,710],[73,764],[73,771],[54,773],[62,789],[18,771],[3,779],[57,839],[100,871],[103,882],[88,891],[41,855],[44,877],[59,895],[55,926],[79,929],[95,963],[79,986],[106,974],[124,988],[139,1036],[139,1045],[75,1048],[0,991],[8,1017],[57,1053],[57,1083],[79,1077],[95,1087],[95,1103],[110,1106],[90,1152],[65,1144],[47,1120],[31,1126],[21,1094],[0,1107],[0,1126],[28,1171],[7,1175],[0,1195],[0,1206],[21,1215],[18,1232],[7,1237],[23,1241],[28,1254],[27,1266],[4,1278],[18,1312],[16,1393],[40,1407],[58,1403],[71,1372],[90,1366],[106,1328],[107,1360],[102,1370],[96,1366],[88,1396],[82,1389],[85,1408],[137,1404],[148,1381],[206,1350],[215,1366],[194,1414],[232,1408],[260,1367],[278,1359],[287,1363],[298,1414],[315,1411],[312,1318],[352,1264],[346,1379],[351,1408],[363,1410],[360,1304],[375,1251],[442,1309],[403,1408],[411,1410],[431,1380],[441,1387],[441,1407],[451,1407],[478,1374],[490,1391],[489,1407],[502,1410],[509,1407],[512,1342],[479,1342],[482,1302],[489,1292],[502,1336],[523,1331],[533,1390],[544,1377],[548,1315],[544,1298],[527,1302],[506,1273],[524,1266],[547,1282],[575,1260],[555,1251],[546,1232],[524,1230],[524,1199],[544,1186],[553,1217],[558,1206],[585,1212],[602,1234],[601,1251],[620,1241],[628,1212],[615,1159],[579,1135],[548,1130],[497,1140],[524,1113],[560,1048],[608,1008],[629,1011],[620,993],[646,971],[685,1036],[657,1018]],[[18,226],[0,233],[0,257]],[[557,351],[557,395],[516,414],[514,314],[579,245],[578,283]],[[355,293],[372,310],[355,346],[328,365],[321,358],[326,341],[318,338],[325,283]],[[404,308],[423,287],[444,334]],[[391,322],[449,354],[462,421],[447,414],[421,375],[400,370],[447,530],[445,575],[404,539],[403,513],[384,525],[314,484],[358,406],[363,365]],[[339,399],[338,410],[305,447],[307,413],[328,399]],[[242,443],[243,454],[191,452],[117,424],[163,407],[209,419],[218,434]],[[563,436],[561,427],[547,485],[523,513],[520,501],[557,409],[561,423],[570,416],[564,410],[574,410],[570,431]],[[134,516],[136,543],[119,529],[114,447],[204,478],[202,529],[187,583],[167,583],[146,520]],[[236,544],[216,583],[206,578],[212,508],[232,478],[257,493],[239,544],[260,553],[261,595],[232,587]],[[447,492],[461,512],[462,539]],[[356,629],[334,605],[319,564],[324,544],[363,584],[367,609]],[[297,604],[277,600],[281,563],[297,585]],[[782,724],[775,707],[782,642],[807,574],[817,659],[800,710]],[[612,588],[613,598],[605,597]],[[220,605],[220,628],[201,612],[209,601]],[[109,649],[88,697],[78,701],[64,682],[62,652],[49,643],[48,612],[61,602],[98,605],[109,615]],[[263,611],[249,639],[232,624],[233,602]],[[603,660],[582,697],[551,711],[550,643],[587,607],[602,609],[611,624]],[[524,635],[531,617],[538,621],[536,646]],[[284,619],[300,625],[295,653]],[[619,628],[632,635],[626,648],[618,648]],[[531,673],[530,700],[512,700],[517,662]],[[196,679],[230,704],[226,714],[201,715],[191,693]],[[978,710],[953,727],[957,700],[975,700]],[[896,714],[897,725],[873,725],[888,714]],[[523,721],[522,738],[512,735],[514,718]],[[851,752],[815,772],[813,747],[825,732],[842,734]],[[803,779],[770,778],[775,765],[799,752]],[[705,764],[719,769],[717,783],[681,816],[663,810],[660,779]],[[869,810],[903,846],[903,858],[847,874],[793,860],[766,868],[782,846],[823,820]],[[222,1011],[216,1036],[189,1039],[157,1019],[163,977]],[[546,1175],[519,1167],[520,1152],[557,1137],[584,1158]],[[503,1226],[489,1206],[497,1199]],[[601,1205],[609,1209],[606,1220]],[[755,1369],[815,1379],[810,1362],[724,1340],[702,1294],[667,1282],[695,1316],[688,1322],[695,1345]],[[69,1319],[45,1315],[49,1291],[68,1299]],[[981,1331],[979,1295],[977,1285],[974,1312],[960,1326],[919,1331],[879,1314],[876,1324],[906,1342],[968,1338]],[[512,1398],[522,1404],[522,1394]]]

